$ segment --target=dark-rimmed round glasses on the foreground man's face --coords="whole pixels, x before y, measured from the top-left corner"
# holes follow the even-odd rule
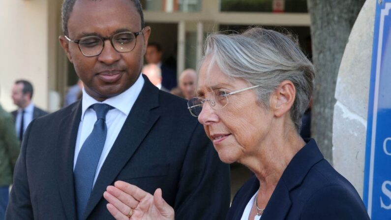
[[[79,45],[80,52],[82,52],[84,56],[94,57],[102,53],[106,40],[110,40],[113,48],[119,53],[132,51],[136,47],[137,36],[142,34],[143,30],[140,32],[120,32],[111,37],[86,36],[78,40],[72,40],[66,35],[64,37],[70,42],[77,43]]]

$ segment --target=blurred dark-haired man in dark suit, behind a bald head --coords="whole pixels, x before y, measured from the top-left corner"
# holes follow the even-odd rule
[[[145,53],[147,64],[156,64],[161,69],[162,85],[164,88],[171,90],[177,86],[176,70],[162,62],[163,52],[157,43],[150,42]]]

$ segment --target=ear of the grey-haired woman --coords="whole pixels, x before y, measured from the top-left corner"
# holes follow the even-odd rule
[[[289,80],[278,85],[278,88],[271,94],[271,109],[276,117],[289,112],[295,102],[296,88]]]

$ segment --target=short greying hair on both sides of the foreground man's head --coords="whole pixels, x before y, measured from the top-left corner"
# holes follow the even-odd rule
[[[96,1],[96,0],[94,0]],[[130,0],[134,3],[134,6],[136,7],[137,12],[140,14],[141,18],[141,28],[143,29],[144,24],[144,14],[143,14],[143,8],[141,6],[140,0]],[[61,18],[62,18],[62,31],[64,35],[68,35],[68,20],[72,13],[73,6],[75,5],[76,0],[64,0],[62,2],[62,8],[61,8]],[[110,18],[108,18],[110,19]]]

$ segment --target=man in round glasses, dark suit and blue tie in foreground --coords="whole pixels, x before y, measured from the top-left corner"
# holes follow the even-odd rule
[[[65,0],[62,18],[83,97],[30,123],[6,219],[112,219],[103,192],[117,180],[163,189],[178,219],[223,219],[228,166],[186,101],[141,74],[150,27],[140,2]]]

